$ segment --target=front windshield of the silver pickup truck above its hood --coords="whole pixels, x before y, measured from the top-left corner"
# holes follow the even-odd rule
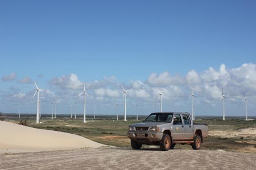
[[[173,113],[151,113],[144,122],[171,122]]]

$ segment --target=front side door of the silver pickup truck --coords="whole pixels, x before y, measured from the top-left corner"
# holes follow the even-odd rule
[[[172,140],[176,141],[183,139],[184,126],[180,114],[174,114],[174,121],[172,125]]]

